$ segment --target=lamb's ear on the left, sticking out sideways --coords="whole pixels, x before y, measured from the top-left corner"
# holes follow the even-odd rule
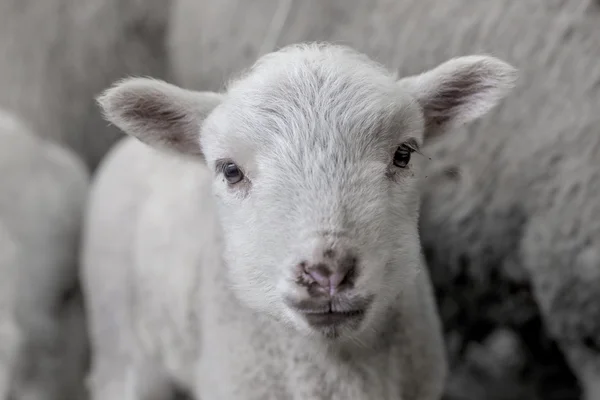
[[[97,101],[104,118],[128,135],[158,149],[202,157],[200,126],[222,96],[151,78],[128,78]]]

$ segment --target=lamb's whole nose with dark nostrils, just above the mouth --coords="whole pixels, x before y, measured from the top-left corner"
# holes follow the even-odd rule
[[[347,249],[317,250],[311,260],[300,262],[297,283],[313,296],[334,296],[354,286],[358,258]]]

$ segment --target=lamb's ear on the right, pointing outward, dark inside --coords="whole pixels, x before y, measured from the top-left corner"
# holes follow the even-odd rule
[[[400,79],[425,115],[425,140],[490,111],[515,86],[517,70],[491,56],[450,59],[420,75]]]

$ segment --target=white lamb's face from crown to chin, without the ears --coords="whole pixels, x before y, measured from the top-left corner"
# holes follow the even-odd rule
[[[369,326],[419,267],[422,112],[390,74],[342,54],[260,63],[201,140],[238,296],[328,336]]]

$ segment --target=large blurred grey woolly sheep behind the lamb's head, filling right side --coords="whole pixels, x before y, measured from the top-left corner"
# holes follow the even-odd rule
[[[535,373],[526,380],[537,381],[522,383],[538,393],[519,397],[514,385],[503,384],[484,389],[486,396],[577,398],[556,391],[557,381],[574,382],[568,371],[556,368],[562,360],[555,357],[555,346],[544,344],[553,338],[570,354],[572,369],[592,393],[588,397],[598,398],[593,387],[600,382],[594,372],[600,368],[594,361],[599,213],[593,209],[600,202],[593,169],[600,137],[600,4],[261,0],[263,16],[246,18],[234,11],[242,3],[223,0],[201,13],[206,1],[176,2],[170,37],[181,82],[199,90],[211,87],[223,80],[221,60],[234,64],[227,68],[245,67],[265,49],[300,40],[352,45],[401,75],[474,52],[519,68],[514,101],[468,132],[426,149],[438,165],[429,173],[421,217],[428,265],[449,342],[456,331],[466,341],[483,342],[504,327],[527,349],[519,357]],[[224,18],[233,22],[219,25]],[[232,38],[239,51],[225,45]],[[573,237],[561,238],[569,229]],[[543,256],[536,257],[540,252]],[[547,329],[538,327],[541,317]],[[477,398],[468,386],[459,391],[461,399]]]

